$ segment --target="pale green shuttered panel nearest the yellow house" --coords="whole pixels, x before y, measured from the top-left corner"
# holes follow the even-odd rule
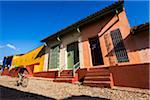
[[[50,69],[59,68],[59,46],[55,46],[50,50]]]

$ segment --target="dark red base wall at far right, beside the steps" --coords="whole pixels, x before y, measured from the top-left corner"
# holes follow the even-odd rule
[[[110,67],[114,86],[148,89],[149,65],[145,63]]]

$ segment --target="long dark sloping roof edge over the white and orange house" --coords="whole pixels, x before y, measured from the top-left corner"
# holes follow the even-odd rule
[[[72,25],[70,25],[70,26],[68,26],[68,27],[66,27],[66,28],[56,32],[55,34],[50,35],[50,36],[42,39],[41,42],[45,42],[45,41],[47,41],[50,38],[54,38],[54,37],[57,37],[57,36],[59,36],[61,34],[69,32],[71,30],[74,30],[74,29],[82,26],[83,24],[87,24],[87,23],[89,23],[89,22],[91,22],[93,20],[96,20],[96,19],[104,16],[106,13],[108,13],[108,12],[110,12],[112,10],[119,9],[120,7],[122,8],[123,4],[124,4],[124,1],[115,2],[112,5],[110,5],[108,7],[105,7],[104,9],[102,9],[102,10],[100,10],[100,11],[98,11],[98,12],[96,12],[96,13],[90,15],[90,16],[87,16],[86,18],[84,18],[84,19],[82,19],[82,20],[80,20],[80,21],[78,21],[78,22],[76,22],[76,23],[74,23],[74,24],[72,24]]]

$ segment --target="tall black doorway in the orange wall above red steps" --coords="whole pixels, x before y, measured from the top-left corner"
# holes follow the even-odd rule
[[[89,39],[93,66],[104,65],[98,36]]]

